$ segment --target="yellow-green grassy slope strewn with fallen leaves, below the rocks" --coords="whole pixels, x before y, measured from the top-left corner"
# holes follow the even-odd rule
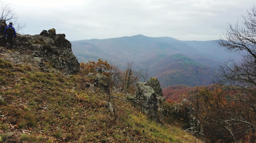
[[[175,125],[151,121],[123,93],[112,93],[114,117],[106,102],[109,95],[99,89],[79,89],[78,75],[49,71],[53,72],[0,58],[0,97],[7,100],[0,100],[3,143],[201,142]]]

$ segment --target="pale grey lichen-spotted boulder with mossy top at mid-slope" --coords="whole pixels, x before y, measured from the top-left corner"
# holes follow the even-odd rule
[[[135,102],[141,111],[153,119],[157,119],[159,104],[165,101],[157,78],[150,78],[147,82],[137,82]]]

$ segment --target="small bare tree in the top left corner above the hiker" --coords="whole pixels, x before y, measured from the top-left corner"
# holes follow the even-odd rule
[[[1,17],[0,20],[4,20],[5,22],[12,22],[13,26],[15,25],[15,30],[21,30],[26,26],[26,24],[20,24],[17,22],[18,17],[14,10],[11,8],[9,4],[4,4],[2,1],[0,1],[0,8],[1,8]]]

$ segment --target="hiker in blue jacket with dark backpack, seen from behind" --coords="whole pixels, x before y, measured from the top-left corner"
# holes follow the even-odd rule
[[[7,49],[12,49],[13,40],[17,37],[16,31],[14,27],[12,26],[12,22],[8,26],[4,28],[4,35],[6,39],[6,47]]]

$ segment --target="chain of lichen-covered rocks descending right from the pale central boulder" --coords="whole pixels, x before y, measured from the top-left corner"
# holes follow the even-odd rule
[[[152,119],[182,121],[184,130],[195,135],[203,135],[200,121],[194,116],[194,109],[188,100],[183,100],[180,104],[171,105],[165,102],[159,81],[157,78],[150,78],[147,82],[137,82],[135,97],[128,97],[141,108],[141,111]]]

